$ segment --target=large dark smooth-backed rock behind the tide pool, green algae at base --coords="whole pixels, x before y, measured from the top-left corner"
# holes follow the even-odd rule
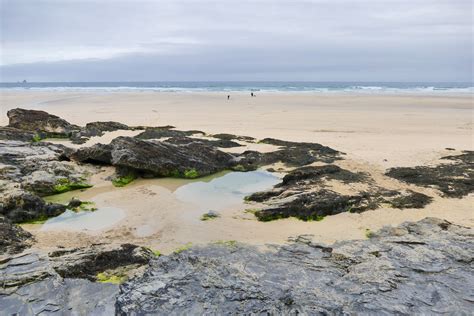
[[[80,162],[108,163],[154,176],[195,178],[226,169],[233,156],[197,142],[178,146],[117,137],[109,145],[79,149],[72,158]]]

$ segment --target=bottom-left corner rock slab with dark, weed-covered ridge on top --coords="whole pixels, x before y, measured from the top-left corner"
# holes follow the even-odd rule
[[[153,253],[134,245],[94,245],[49,256],[27,252],[0,261],[0,310],[6,315],[112,315],[118,284],[92,282],[97,272],[134,273]]]

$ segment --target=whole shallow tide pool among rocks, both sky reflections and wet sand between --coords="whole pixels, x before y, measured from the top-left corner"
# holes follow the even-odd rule
[[[225,212],[230,209],[240,209],[243,207],[245,196],[272,188],[281,181],[279,176],[279,174],[263,170],[221,172],[193,180],[138,179],[123,188],[115,188],[110,185],[93,187],[84,192],[71,191],[47,197],[46,200],[63,204],[68,203],[73,197],[83,201],[92,200],[99,206],[98,210],[79,212],[67,210],[63,214],[47,220],[41,230],[98,231],[115,225],[127,216],[138,216],[135,219],[150,217],[151,220],[153,218],[151,223],[138,221],[140,224],[135,222],[136,226],[134,226],[137,236],[149,236],[156,231],[158,216],[169,216],[168,219],[179,216],[181,219],[195,222],[200,221],[202,214],[209,210]],[[160,187],[162,191],[156,191],[153,189],[154,186]],[[120,191],[123,192],[120,196],[113,195]],[[135,203],[122,200],[123,197],[130,194],[137,199],[140,199],[140,195],[142,195],[140,201],[142,203],[146,201],[140,207],[139,213],[134,211],[137,207]],[[121,208],[107,206],[109,199],[113,200],[115,205],[122,205]],[[168,199],[168,202],[162,204],[164,199]],[[170,208],[173,200],[177,202],[174,203],[174,207],[180,209],[179,213],[170,212],[170,209],[173,208],[173,206]],[[143,209],[148,207],[148,210],[143,211],[142,207]],[[129,222],[133,222],[133,220],[130,218]]]

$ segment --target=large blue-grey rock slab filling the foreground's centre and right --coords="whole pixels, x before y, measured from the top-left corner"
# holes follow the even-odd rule
[[[116,314],[470,314],[473,237],[428,218],[330,247],[196,246],[123,284]]]

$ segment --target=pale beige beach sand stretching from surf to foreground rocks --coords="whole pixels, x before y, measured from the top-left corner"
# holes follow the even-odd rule
[[[259,94],[256,98],[232,94],[227,101],[226,95],[2,91],[0,124],[7,123],[8,109],[23,107],[46,110],[79,125],[114,120],[129,125],[174,125],[207,133],[318,142],[347,153],[346,160],[339,165],[369,172],[378,184],[390,188],[407,186],[384,177],[386,168],[437,163],[443,155],[474,148],[473,104],[468,96],[273,93]],[[102,141],[109,141],[111,135]],[[447,151],[447,147],[456,151]],[[262,147],[262,150],[272,148]],[[190,213],[190,206],[173,195],[182,182],[141,180],[125,188],[114,188],[105,180],[109,173],[107,169],[95,176],[95,188],[74,195],[91,199],[99,207],[122,208],[127,213],[126,219],[99,232],[40,232],[37,227],[28,226],[35,233],[38,246],[136,242],[168,252],[188,242],[282,243],[298,234],[313,234],[317,240],[330,243],[365,238],[366,229],[376,230],[426,216],[474,226],[472,195],[444,199],[434,190],[423,188],[416,190],[436,198],[422,210],[383,208],[330,216],[321,222],[286,219],[261,223],[243,212],[248,206],[239,203],[222,210],[221,218],[203,222],[199,220],[200,214]],[[342,186],[334,183],[334,189],[342,190]]]

